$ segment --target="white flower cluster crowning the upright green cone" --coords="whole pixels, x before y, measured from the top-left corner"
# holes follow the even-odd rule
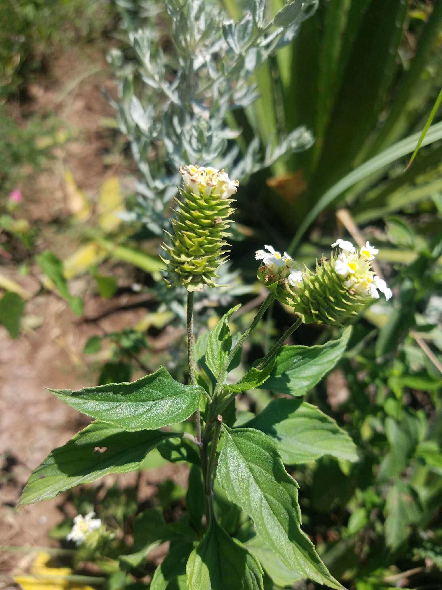
[[[203,166],[180,166],[184,186],[193,194],[219,196],[228,199],[235,195],[239,182],[231,181],[227,172]]]

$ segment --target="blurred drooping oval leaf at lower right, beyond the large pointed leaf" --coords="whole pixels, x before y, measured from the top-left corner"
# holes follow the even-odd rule
[[[404,481],[397,479],[388,490],[385,503],[385,541],[397,549],[410,535],[410,525],[421,516],[417,493]]]

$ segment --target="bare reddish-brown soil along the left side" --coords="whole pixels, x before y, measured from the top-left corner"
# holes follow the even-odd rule
[[[88,71],[94,73],[87,75]],[[31,224],[54,224],[67,215],[65,168],[91,198],[109,175],[128,172],[118,159],[111,165],[103,163],[113,138],[112,132],[103,127],[102,117],[113,116],[113,110],[101,87],[115,94],[104,52],[84,57],[83,53],[72,51],[54,61],[50,77],[42,78],[29,89],[33,101],[27,110],[53,110],[75,133],[74,140],[55,150],[55,159],[33,178],[31,186],[19,187],[24,194],[24,217]],[[15,109],[17,117],[26,114],[18,105]],[[78,247],[75,235],[63,235],[57,230],[48,230],[42,242],[41,250],[51,248],[61,258]],[[82,351],[88,337],[99,330],[96,324],[75,317],[55,294],[37,294],[39,283],[32,274],[21,277],[14,265],[3,263],[0,260],[2,274],[35,293],[26,313],[38,318],[39,325],[17,340],[11,340],[0,326],[0,545],[48,546],[48,530],[62,519],[63,496],[32,506],[17,507],[17,503],[32,468],[52,448],[65,444],[88,423],[86,417],[55,399],[45,387],[78,389],[96,382],[97,375],[88,368],[88,358]],[[75,287],[84,288],[81,279]],[[95,317],[105,309],[113,310],[100,320],[100,325],[107,332],[121,330],[146,313],[142,306],[125,309],[127,304],[137,301],[136,297],[135,293],[133,297],[125,294],[105,303],[92,297],[87,301],[85,316]],[[155,483],[166,477],[184,485],[186,470],[171,465],[143,474],[143,499],[154,492]],[[113,478],[108,479],[111,484]],[[125,481],[133,483],[131,474]],[[22,569],[25,562],[23,555],[0,553],[0,573]],[[9,584],[7,578],[6,582],[0,580],[2,588],[12,587]]]

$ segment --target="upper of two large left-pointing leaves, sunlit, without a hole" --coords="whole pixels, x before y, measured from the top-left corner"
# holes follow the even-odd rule
[[[79,412],[126,430],[154,430],[182,422],[196,410],[204,392],[199,385],[175,381],[164,367],[132,383],[49,391]]]

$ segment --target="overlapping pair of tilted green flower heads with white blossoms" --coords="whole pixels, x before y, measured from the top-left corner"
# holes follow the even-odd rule
[[[351,242],[337,240],[332,247],[339,250],[329,260],[316,263],[315,272],[298,264],[271,246],[256,252],[262,260],[258,268],[259,280],[268,287],[276,299],[293,307],[304,323],[317,322],[341,326],[356,316],[373,299],[378,291],[390,299],[391,290],[380,277],[375,276],[371,260],[378,250],[366,242],[359,252]]]

